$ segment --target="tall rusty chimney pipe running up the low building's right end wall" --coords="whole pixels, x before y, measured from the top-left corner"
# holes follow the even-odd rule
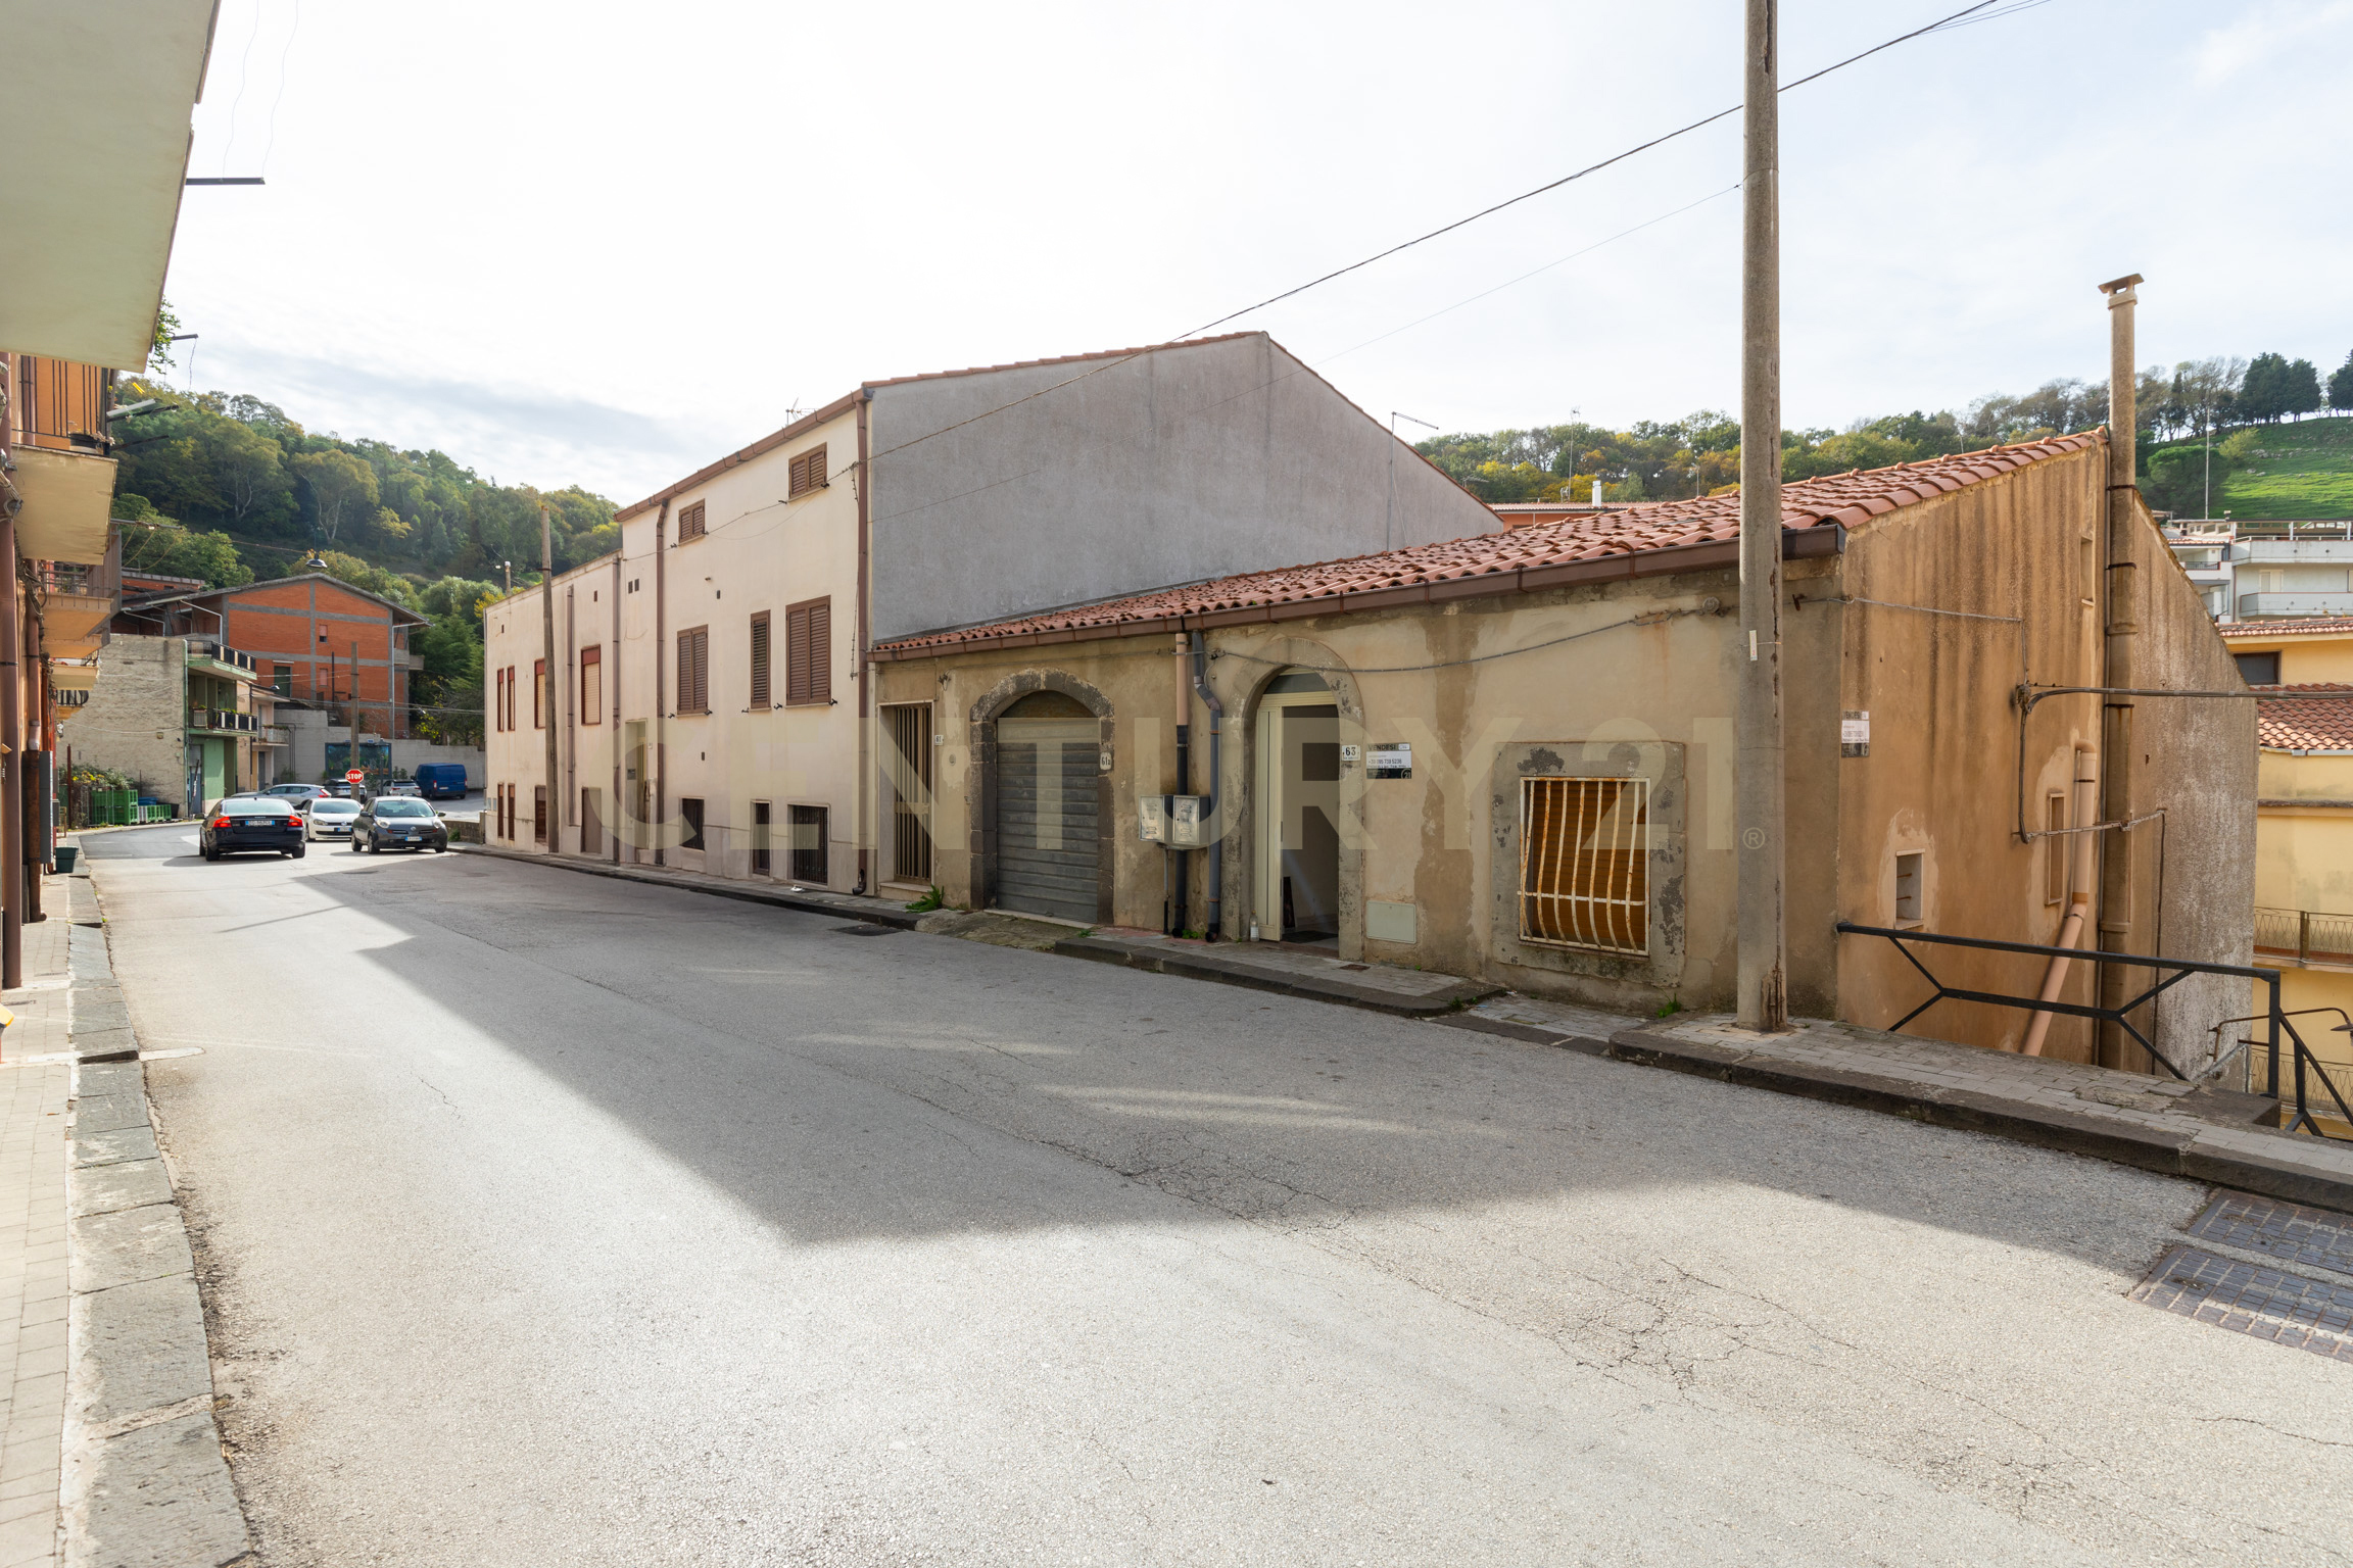
[[[2137,679],[2137,644],[2139,644],[2139,571],[2134,564],[2134,545],[2139,517],[2134,512],[2134,501],[2139,491],[2132,480],[2134,451],[2134,378],[2132,378],[2132,287],[2141,282],[2139,273],[2127,277],[2115,277],[2099,284],[2101,294],[2108,296],[2108,550],[2106,550],[2106,599],[2108,621],[2106,639],[2101,646],[2101,686],[2111,691],[2132,689],[2141,682]],[[2101,788],[2101,816],[2111,823],[2129,823],[2132,809],[2132,783],[2134,783],[2134,738],[2132,738],[2132,701],[2108,696],[2101,710],[2104,736],[2101,750],[2108,757],[2106,780]],[[2108,844],[2108,853],[2101,856],[2099,867],[2099,945],[2111,952],[2132,952],[2132,839],[2118,835]],[[2132,976],[2122,964],[2099,966],[2099,1004],[2122,1006],[2127,1001]],[[2125,1030],[2118,1023],[2099,1025],[2099,1053],[2101,1067],[2125,1067]],[[2141,1063],[2134,1060],[2134,1067]]]

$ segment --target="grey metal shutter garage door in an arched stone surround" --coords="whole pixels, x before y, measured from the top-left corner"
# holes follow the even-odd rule
[[[1026,717],[1024,708],[1078,708],[1038,693],[998,719],[998,907],[1096,917],[1096,776],[1104,726],[1094,717]],[[1049,708],[1049,712],[1052,712]]]

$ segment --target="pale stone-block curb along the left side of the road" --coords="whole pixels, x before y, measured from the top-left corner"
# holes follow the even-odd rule
[[[221,1568],[252,1537],[212,1415],[212,1354],[188,1225],[155,1150],[146,1067],[106,933],[68,936],[73,1070],[66,1178],[66,1568]],[[87,1027],[85,1027],[87,1025]]]

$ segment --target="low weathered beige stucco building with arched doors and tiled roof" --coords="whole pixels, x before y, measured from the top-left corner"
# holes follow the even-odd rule
[[[2106,569],[2106,440],[2085,435],[1786,489],[1793,1011],[1889,1025],[1927,994],[1840,919],[2057,938],[2066,830],[2087,825],[2071,785],[2085,757],[2097,769],[2104,698],[2042,698],[2021,726],[2021,689],[2099,686],[2104,628],[2137,628],[2146,686],[2238,684],[2146,512],[2137,569]],[[1734,541],[1732,496],[1638,505],[904,637],[875,649],[878,703],[932,736],[932,762],[901,776],[951,903],[1322,940],[1621,1011],[1718,1009]],[[2111,604],[2111,581],[2134,602]],[[2134,750],[2137,820],[2097,832],[2132,867],[2129,900],[2101,910],[2106,945],[2245,964],[2252,703],[2144,701]],[[1160,795],[1214,797],[1214,849],[1148,839]],[[2040,959],[1929,957],[1953,985],[2042,978]],[[2064,994],[2092,999],[2087,966]],[[2242,997],[2184,983],[2144,1023],[2191,1063]],[[2017,1048],[2026,1013],[1941,1001],[1911,1027]],[[2089,1025],[2059,1020],[2049,1053],[2089,1060]],[[2115,1065],[2148,1065],[2132,1056]]]

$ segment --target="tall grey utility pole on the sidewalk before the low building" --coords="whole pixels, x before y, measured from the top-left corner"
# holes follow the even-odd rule
[[[1741,125],[1739,1025],[1788,1027],[1781,870],[1779,0],[1748,0]],[[1595,496],[1598,501],[1600,496]]]

